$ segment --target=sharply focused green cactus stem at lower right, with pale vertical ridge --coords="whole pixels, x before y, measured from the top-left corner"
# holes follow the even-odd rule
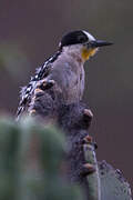
[[[93,144],[84,144],[84,156],[95,167],[95,172],[88,176],[90,200],[132,200],[130,184],[122,172],[105,161],[98,162]]]

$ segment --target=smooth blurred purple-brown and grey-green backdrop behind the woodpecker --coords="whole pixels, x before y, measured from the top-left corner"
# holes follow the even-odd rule
[[[63,33],[83,29],[114,42],[85,64],[84,101],[94,119],[99,160],[132,184],[133,1],[0,0],[0,113],[14,114],[20,87],[52,56]]]

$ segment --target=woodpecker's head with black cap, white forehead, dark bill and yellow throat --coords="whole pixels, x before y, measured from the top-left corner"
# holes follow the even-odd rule
[[[75,48],[80,50],[83,61],[89,60],[93,57],[98,49],[103,46],[111,46],[112,42],[106,42],[103,40],[96,40],[92,34],[83,30],[71,31],[63,36],[59,47],[60,49],[70,47],[69,49]]]

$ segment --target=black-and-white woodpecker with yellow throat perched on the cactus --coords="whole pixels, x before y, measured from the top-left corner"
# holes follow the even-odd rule
[[[113,43],[96,40],[84,30],[65,33],[58,51],[37,69],[29,84],[22,88],[17,119],[30,104],[38,82],[42,80],[49,84],[58,84],[66,104],[81,101],[84,92],[84,63],[98,52],[99,48],[111,44]]]

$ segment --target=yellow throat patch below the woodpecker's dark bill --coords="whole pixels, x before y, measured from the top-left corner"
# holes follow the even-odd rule
[[[89,50],[83,48],[82,53],[81,53],[82,59],[84,61],[89,60],[90,57],[93,57],[95,54],[96,50],[98,50],[96,48],[95,49],[89,49]]]

